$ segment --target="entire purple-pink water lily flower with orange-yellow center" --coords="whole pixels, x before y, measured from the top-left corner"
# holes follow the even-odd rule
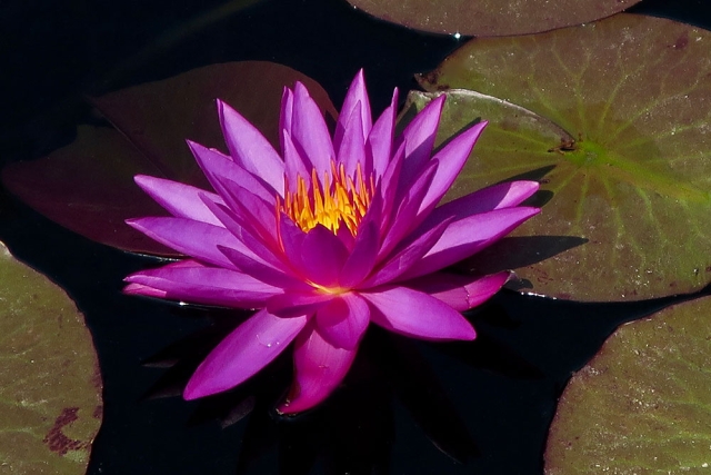
[[[373,122],[362,71],[331,137],[299,82],[281,102],[281,154],[218,101],[229,155],[188,142],[217,192],[156,177],[136,182],[172,217],[128,224],[189,259],[127,277],[128,294],[259,309],[220,343],[184,389],[230,389],[293,342],[282,413],[326,399],[370,323],[428,340],[471,340],[461,311],[509,278],[442,269],[491,245],[538,208],[534,181],[497,185],[437,206],[485,122],[432,155],[444,96],[394,137],[398,91]]]

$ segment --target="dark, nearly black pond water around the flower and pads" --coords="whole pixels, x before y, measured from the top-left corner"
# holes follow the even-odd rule
[[[463,41],[372,20],[338,0],[263,1],[182,34],[219,3],[1,4],[3,162],[71,141],[89,113],[82,93],[259,59],[311,76],[337,105],[363,67],[373,109],[381,110],[393,86],[414,88],[414,72],[433,68]],[[644,0],[634,11],[711,26],[702,0]],[[157,46],[159,39],[168,46]],[[1,205],[0,240],[67,289],[94,336],[106,412],[90,474],[539,474],[571,372],[620,323],[673,301],[581,305],[503,291],[471,316],[481,336],[475,349],[371,331],[346,388],[321,409],[294,420],[273,415],[271,404],[288,382],[282,360],[253,388],[252,414],[223,429],[200,403],[141,400],[164,372],[141,363],[204,328],[210,313],[122,296],[123,276],[150,259],[88,241],[11,197]],[[230,407],[223,399],[210,407],[222,403]]]

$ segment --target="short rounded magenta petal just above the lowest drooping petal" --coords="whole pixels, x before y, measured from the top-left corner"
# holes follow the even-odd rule
[[[318,331],[337,348],[356,349],[370,323],[368,303],[357,294],[343,294],[316,314]]]

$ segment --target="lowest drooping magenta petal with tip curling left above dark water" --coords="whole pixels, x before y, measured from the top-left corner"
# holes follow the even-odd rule
[[[356,350],[336,348],[318,331],[302,331],[293,353],[293,386],[278,410],[296,414],[321,403],[343,380],[354,358]]]

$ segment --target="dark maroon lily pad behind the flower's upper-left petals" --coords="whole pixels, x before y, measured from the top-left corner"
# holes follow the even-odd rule
[[[81,126],[77,139],[40,160],[2,170],[6,187],[37,211],[99,243],[136,253],[174,256],[123,222],[164,215],[133,182],[147,174],[210,189],[186,139],[227,151],[216,98],[239,110],[272,145],[284,86],[303,82],[328,117],[337,111],[312,79],[261,61],[213,65],[174,78],[92,99],[113,125]]]

